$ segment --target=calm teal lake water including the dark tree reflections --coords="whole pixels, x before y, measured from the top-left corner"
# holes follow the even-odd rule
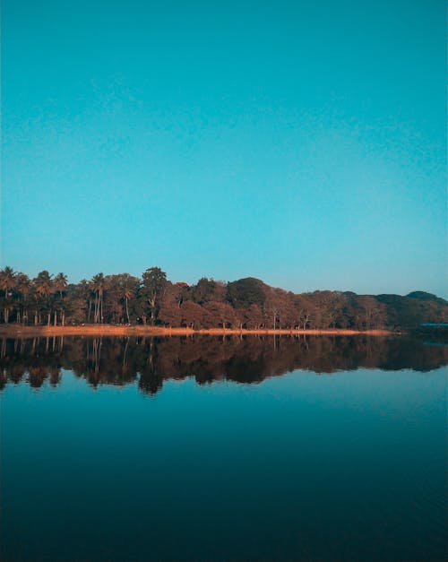
[[[0,347],[4,561],[447,558],[444,342]]]

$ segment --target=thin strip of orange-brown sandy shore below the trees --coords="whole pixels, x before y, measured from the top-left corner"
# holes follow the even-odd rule
[[[388,330],[246,330],[211,328],[210,330],[192,330],[191,328],[160,328],[154,326],[111,326],[108,324],[90,324],[83,326],[22,326],[20,324],[0,325],[0,336],[4,337],[46,337],[62,335],[89,336],[167,336],[167,335],[390,335]]]

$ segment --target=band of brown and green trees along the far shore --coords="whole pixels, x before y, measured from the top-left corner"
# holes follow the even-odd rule
[[[424,291],[407,296],[349,291],[294,293],[259,279],[189,285],[169,281],[159,267],[142,277],[105,275],[70,283],[47,270],[30,278],[0,270],[0,323],[23,325],[123,324],[237,329],[401,330],[447,323],[448,301]]]

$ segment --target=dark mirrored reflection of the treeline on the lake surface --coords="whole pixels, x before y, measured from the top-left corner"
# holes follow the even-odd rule
[[[448,364],[448,347],[401,337],[208,336],[177,338],[3,339],[0,385],[26,379],[39,388],[58,385],[61,368],[90,385],[127,385],[138,379],[155,394],[167,379],[193,376],[200,385],[218,380],[257,383],[296,369],[317,374],[379,367],[427,371]]]

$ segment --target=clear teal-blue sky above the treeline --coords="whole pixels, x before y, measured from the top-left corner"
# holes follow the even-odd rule
[[[448,296],[444,0],[3,0],[1,266]]]

